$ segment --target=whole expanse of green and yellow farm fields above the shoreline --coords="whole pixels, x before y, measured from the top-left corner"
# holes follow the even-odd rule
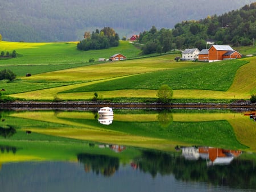
[[[256,57],[176,62],[177,53],[141,58],[141,51],[128,41],[121,41],[119,47],[86,52],[77,51],[76,42],[0,42],[0,51],[12,50],[21,56],[0,60],[0,69],[12,70],[17,78],[1,81],[1,88],[6,90],[3,95],[17,99],[89,100],[96,91],[101,99],[156,99],[163,84],[174,89],[174,99],[249,99],[256,93]],[[246,54],[255,51],[242,50]],[[97,61],[115,53],[122,53],[127,60]],[[92,58],[96,62],[88,62]],[[26,77],[26,73],[32,76]]]

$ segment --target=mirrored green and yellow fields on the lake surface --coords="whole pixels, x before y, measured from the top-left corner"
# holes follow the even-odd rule
[[[97,109],[2,111],[1,119],[0,145],[16,148],[15,153],[2,153],[1,162],[77,161],[81,152],[118,155],[126,162],[138,153],[134,148],[176,152],[177,145],[256,152],[255,122],[243,112],[229,110],[117,109],[109,125],[99,122]],[[10,126],[15,133],[7,132]],[[123,145],[129,150],[119,154],[89,143]]]

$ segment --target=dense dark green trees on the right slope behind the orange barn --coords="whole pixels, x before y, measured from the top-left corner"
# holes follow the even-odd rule
[[[209,48],[206,40],[234,46],[253,45],[256,38],[256,2],[220,16],[189,20],[175,24],[174,29],[155,26],[139,34],[143,54],[168,52],[171,49]]]

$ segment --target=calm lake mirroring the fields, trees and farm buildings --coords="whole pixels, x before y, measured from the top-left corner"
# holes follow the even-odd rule
[[[248,111],[2,110],[1,191],[255,191]]]

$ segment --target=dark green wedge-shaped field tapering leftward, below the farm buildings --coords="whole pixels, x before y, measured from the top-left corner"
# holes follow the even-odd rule
[[[63,93],[106,91],[121,89],[155,89],[167,84],[172,89],[204,89],[226,91],[232,85],[237,69],[247,61],[222,61],[217,63],[203,63],[188,65],[187,67],[158,72],[138,74],[118,80],[101,82]]]

